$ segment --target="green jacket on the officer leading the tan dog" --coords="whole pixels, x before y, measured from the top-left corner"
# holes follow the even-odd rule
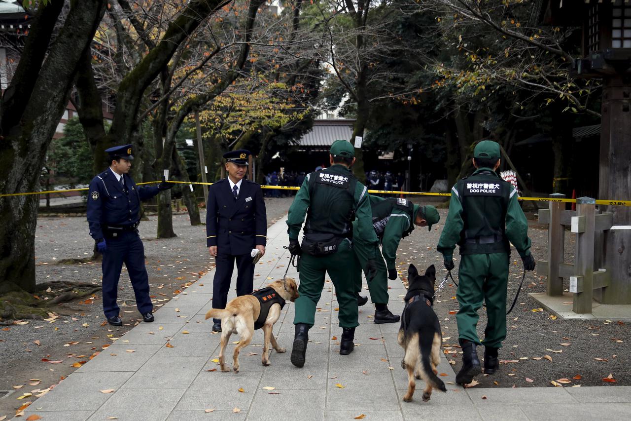
[[[352,175],[350,170],[343,165],[334,164],[331,168],[338,171],[346,171],[346,173]],[[309,195],[309,181],[310,178],[314,177],[314,174],[317,173],[310,173],[307,175],[307,178],[305,178],[302,186],[300,186],[300,190],[298,190],[298,193],[289,208],[289,214],[287,216],[287,233],[289,234],[290,240],[298,238],[300,228],[302,228],[302,224],[305,221],[305,214],[307,214],[307,209],[309,209],[310,206],[329,207],[329,204],[326,203],[311,203]],[[377,239],[377,235],[375,235],[375,230],[372,228],[372,208],[370,207],[368,189],[359,181],[357,181],[357,184],[355,185],[355,194],[353,195],[353,198],[355,205],[355,218],[357,219],[357,231],[353,233],[353,238],[360,238],[364,243],[372,245],[376,249],[379,244],[379,240]],[[340,233],[340,235],[342,234],[343,233]]]

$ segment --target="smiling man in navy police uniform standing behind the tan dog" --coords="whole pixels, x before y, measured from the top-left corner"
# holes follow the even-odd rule
[[[235,260],[237,296],[252,293],[252,249],[265,254],[268,221],[263,193],[260,185],[244,179],[249,155],[245,149],[223,154],[228,177],[208,188],[206,245],[216,264],[213,308],[226,308]],[[221,320],[213,322],[213,331],[221,331]]]

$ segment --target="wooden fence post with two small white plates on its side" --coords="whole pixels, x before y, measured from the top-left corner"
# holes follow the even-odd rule
[[[576,233],[574,276],[570,277],[570,292],[575,291],[575,313],[591,313],[594,295],[594,228],[596,200],[591,197],[576,199],[576,214],[572,217],[572,232]]]

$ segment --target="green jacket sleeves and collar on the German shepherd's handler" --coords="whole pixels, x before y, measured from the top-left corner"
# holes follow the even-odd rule
[[[482,170],[493,171],[490,168],[479,168],[473,173],[474,175]],[[495,174],[493,172],[493,174]],[[497,174],[495,174],[497,176]],[[499,176],[497,176],[499,179]],[[531,241],[528,238],[528,221],[524,211],[519,207],[517,201],[517,189],[512,187],[510,192],[509,204],[506,209],[506,230],[505,234],[509,241],[515,246],[521,257],[530,254]],[[437,250],[442,253],[445,260],[452,259],[454,248],[461,239],[461,231],[464,229],[463,221],[463,205],[458,196],[456,186],[451,188],[451,199],[449,200],[449,213],[447,221],[440,234]]]

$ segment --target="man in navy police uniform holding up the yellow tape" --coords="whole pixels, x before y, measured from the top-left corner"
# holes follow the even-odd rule
[[[88,224],[90,235],[103,253],[103,312],[112,326],[121,326],[116,303],[122,264],[136,295],[136,306],[145,322],[153,322],[153,305],[149,298],[149,277],[144,267],[143,241],[138,235],[140,201],[149,200],[173,185],[162,180],[158,186],[138,187],[129,176],[131,145],[106,149],[110,168],[90,182]]]

